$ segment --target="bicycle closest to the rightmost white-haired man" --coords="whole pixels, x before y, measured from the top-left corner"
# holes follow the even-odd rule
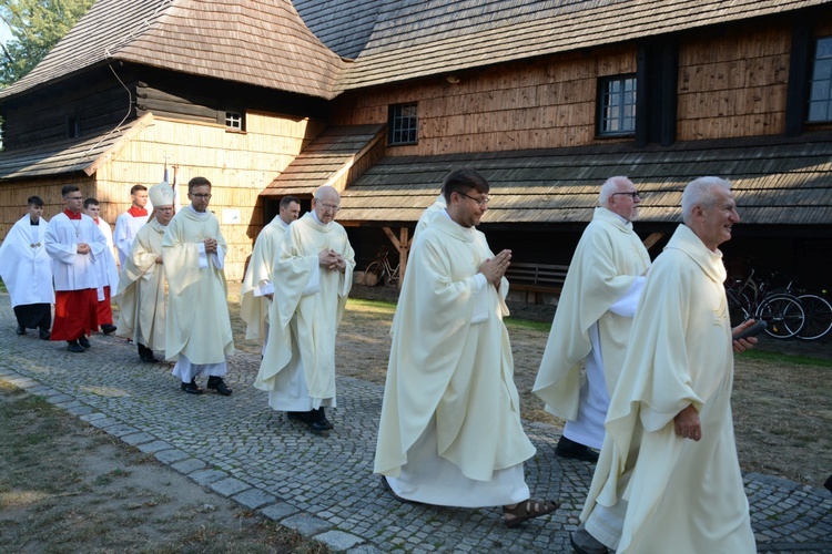
[[[747,279],[726,283],[728,312],[731,326],[751,318],[768,325],[765,332],[777,339],[797,336],[805,324],[805,311],[794,295],[783,291],[768,291],[770,284],[753,279],[754,270]]]

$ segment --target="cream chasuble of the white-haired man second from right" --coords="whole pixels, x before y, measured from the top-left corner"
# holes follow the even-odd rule
[[[534,392],[546,402],[547,411],[576,419],[580,365],[592,350],[590,328],[595,324],[607,393],[612,394],[632,325],[631,310],[613,311],[612,306],[628,295],[633,297],[633,285],[643,281],[640,276],[648,267],[650,256],[632,224],[625,224],[607,208],[596,208],[569,265],[535,381]],[[637,300],[638,294],[630,302],[635,306]]]

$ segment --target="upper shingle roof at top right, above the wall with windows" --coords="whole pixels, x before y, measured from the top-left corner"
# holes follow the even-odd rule
[[[342,74],[338,88],[448,74],[825,3],[829,0],[387,2],[372,39]]]

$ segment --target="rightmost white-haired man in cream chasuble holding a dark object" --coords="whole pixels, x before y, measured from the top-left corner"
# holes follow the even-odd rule
[[[755,339],[733,340],[719,250],[740,220],[730,186],[687,185],[684,224],[648,274],[571,535],[579,553],[757,551],[731,416],[733,352]]]

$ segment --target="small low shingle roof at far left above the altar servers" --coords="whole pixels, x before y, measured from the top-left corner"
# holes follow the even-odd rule
[[[153,114],[146,114],[115,129],[91,130],[83,137],[3,152],[0,156],[0,178],[43,177],[75,172],[92,175],[99,165],[152,122]]]

